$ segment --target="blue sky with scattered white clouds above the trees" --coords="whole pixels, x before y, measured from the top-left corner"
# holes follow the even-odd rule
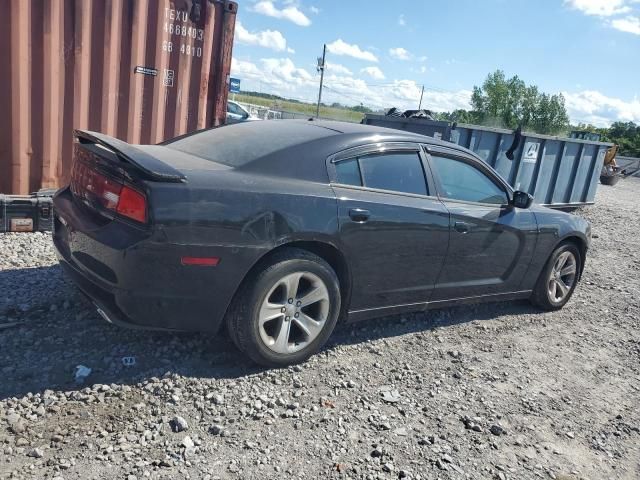
[[[640,122],[640,0],[240,0],[243,90],[436,111],[468,108],[503,69],[562,92],[573,122]]]

